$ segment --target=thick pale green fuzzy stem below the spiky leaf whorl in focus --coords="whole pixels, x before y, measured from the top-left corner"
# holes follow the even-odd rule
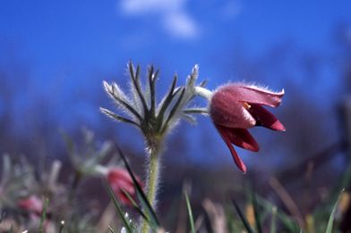
[[[159,175],[159,157],[161,154],[161,142],[159,140],[149,140],[149,158],[148,158],[148,168],[147,168],[147,179],[146,179],[146,196],[150,202],[154,211],[156,211],[158,194],[158,175]],[[149,232],[148,222],[142,220],[141,232]]]

